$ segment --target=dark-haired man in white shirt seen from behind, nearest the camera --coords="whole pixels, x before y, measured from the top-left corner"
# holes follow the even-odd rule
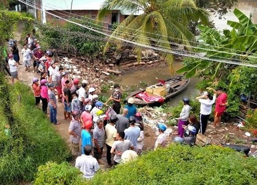
[[[90,155],[92,146],[87,144],[84,147],[84,153],[76,159],[75,167],[78,168],[84,177],[90,179],[94,177],[96,172],[100,169],[99,164],[93,156]]]

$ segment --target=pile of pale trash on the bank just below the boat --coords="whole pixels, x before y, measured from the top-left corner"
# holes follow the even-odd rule
[[[162,107],[149,107],[144,106],[142,108],[138,108],[138,112],[142,114],[144,125],[148,125],[153,128],[154,131],[158,131],[157,124],[163,123],[167,126],[167,114],[163,113]],[[167,136],[169,136],[173,132],[172,128],[167,128],[164,132]]]

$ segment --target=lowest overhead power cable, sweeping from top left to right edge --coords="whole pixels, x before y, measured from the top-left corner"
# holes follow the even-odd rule
[[[24,1],[21,1],[21,0],[19,0],[19,1],[22,2],[22,3],[24,3],[24,4],[26,4],[26,5],[29,5],[29,6],[31,6],[31,7],[34,7],[33,5],[28,4],[28,3],[24,2]],[[34,8],[39,9],[39,8],[37,8],[37,7],[34,7]],[[39,9],[39,10],[41,10],[41,9]],[[44,10],[41,10],[41,11],[44,11]],[[44,12],[46,12],[46,11],[44,11]],[[101,34],[103,34],[103,35],[110,36],[111,38],[115,38],[115,39],[117,39],[117,40],[120,40],[120,41],[123,41],[123,42],[127,42],[127,43],[131,43],[131,44],[134,44],[134,45],[137,45],[137,46],[140,46],[140,47],[155,49],[155,50],[159,50],[159,51],[166,52],[166,53],[171,53],[171,54],[178,54],[178,55],[182,55],[182,56],[185,56],[185,57],[198,58],[198,59],[206,60],[206,61],[212,61],[212,62],[214,61],[214,62],[222,62],[222,63],[227,63],[227,64],[235,64],[235,65],[244,65],[244,66],[249,66],[249,67],[257,67],[257,65],[254,65],[254,64],[246,64],[246,63],[239,63],[239,62],[226,61],[226,60],[223,60],[223,61],[222,61],[222,60],[217,60],[217,59],[209,59],[209,58],[206,58],[206,57],[201,57],[201,56],[199,56],[199,55],[177,53],[177,52],[171,51],[171,50],[166,50],[166,49],[156,48],[156,47],[152,47],[152,46],[145,45],[145,44],[141,44],[141,43],[136,43],[136,42],[134,42],[134,41],[130,41],[130,40],[125,40],[125,39],[123,39],[123,38],[119,38],[118,36],[109,35],[109,34],[107,34],[107,33],[105,33],[105,32],[98,31],[98,30],[96,30],[96,29],[94,29],[94,28],[89,28],[89,27],[87,27],[87,26],[85,26],[85,25],[82,25],[82,24],[79,24],[79,23],[76,23],[76,22],[67,20],[67,19],[65,19],[65,18],[63,18],[63,17],[60,17],[60,16],[58,16],[58,15],[55,15],[55,14],[53,14],[53,13],[50,13],[50,12],[46,12],[46,13],[48,13],[48,14],[50,14],[50,15],[53,15],[53,16],[56,16],[56,17],[58,17],[58,18],[61,18],[62,20],[65,20],[65,21],[67,21],[67,22],[69,22],[69,23],[73,23],[73,24],[76,24],[76,25],[78,25],[78,26],[81,26],[81,27],[84,27],[84,28],[86,28],[86,29],[89,29],[89,30],[91,30],[91,31],[95,31],[95,32],[101,33]]]

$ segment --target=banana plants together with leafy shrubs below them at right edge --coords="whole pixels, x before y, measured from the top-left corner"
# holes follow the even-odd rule
[[[257,64],[257,25],[251,22],[240,10],[234,10],[239,22],[228,21],[230,30],[223,34],[215,29],[198,26],[201,31],[198,52],[206,52],[206,57],[248,64]],[[227,114],[238,115],[240,95],[251,96],[257,93],[257,68],[207,60],[188,58],[184,67],[177,72],[186,72],[187,77],[197,75],[203,80],[198,83],[200,90],[206,87],[222,86],[228,94]]]

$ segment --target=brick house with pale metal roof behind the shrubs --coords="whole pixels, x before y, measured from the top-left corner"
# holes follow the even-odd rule
[[[42,12],[35,11],[35,17],[41,20],[42,23],[54,20],[61,25],[65,24],[66,21],[54,17],[54,15],[65,19],[70,17],[81,18],[87,15],[89,18],[95,19],[104,1],[105,0],[35,0],[35,5],[43,10]],[[135,15],[139,15],[140,13],[141,12],[138,12]],[[128,15],[130,15],[128,11],[113,10],[111,13],[104,16],[102,20],[104,27],[108,28],[113,23],[121,23]]]

